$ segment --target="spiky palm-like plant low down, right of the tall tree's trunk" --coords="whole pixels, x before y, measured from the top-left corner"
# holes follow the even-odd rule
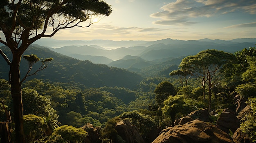
[[[45,123],[46,123],[46,128],[45,128],[45,135],[49,136],[52,134],[53,130],[58,128],[61,123],[58,120],[54,120],[52,116],[48,117],[43,117]]]

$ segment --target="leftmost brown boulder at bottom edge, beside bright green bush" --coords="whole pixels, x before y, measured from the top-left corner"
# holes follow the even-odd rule
[[[85,138],[85,143],[97,143],[100,137],[97,128],[94,128],[91,123],[87,123],[82,129],[88,132],[88,136]]]

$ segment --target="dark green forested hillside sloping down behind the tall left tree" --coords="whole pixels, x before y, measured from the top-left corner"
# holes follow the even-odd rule
[[[1,48],[4,52],[8,51],[8,48]],[[10,56],[10,52],[6,52],[7,56]],[[75,82],[81,83],[87,87],[126,87],[130,89],[136,88],[136,85],[143,79],[140,75],[132,73],[125,69],[116,67],[110,67],[105,64],[93,64],[92,62],[79,59],[74,59],[61,55],[49,48],[38,48],[36,46],[30,46],[24,55],[35,54],[38,57],[45,59],[52,57],[53,61],[49,66],[40,71],[37,75],[28,77],[27,79],[49,79],[52,82]],[[40,67],[40,62],[33,66],[33,71],[36,71]],[[4,59],[0,57],[0,78],[8,80],[8,65]],[[22,59],[20,64],[21,77],[27,72],[28,64]]]

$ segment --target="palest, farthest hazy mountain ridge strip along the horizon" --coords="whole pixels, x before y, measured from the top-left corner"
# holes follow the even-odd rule
[[[236,44],[236,43],[255,43],[256,38],[240,38],[233,40],[211,40],[208,38],[201,40],[173,40],[171,38],[156,40],[156,41],[142,41],[142,40],[129,40],[129,41],[112,41],[112,40],[55,40],[52,38],[42,38],[34,42],[34,44],[38,44],[41,46],[49,47],[49,48],[60,48],[63,46],[84,46],[84,45],[97,45],[103,47],[105,49],[113,49],[120,47],[131,47],[131,46],[150,46],[153,44],[181,44],[185,41],[198,41],[198,42],[211,42],[216,44]]]

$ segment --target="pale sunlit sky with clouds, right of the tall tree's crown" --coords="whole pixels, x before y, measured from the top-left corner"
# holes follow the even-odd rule
[[[256,0],[105,0],[112,14],[58,40],[232,40],[256,38]]]

